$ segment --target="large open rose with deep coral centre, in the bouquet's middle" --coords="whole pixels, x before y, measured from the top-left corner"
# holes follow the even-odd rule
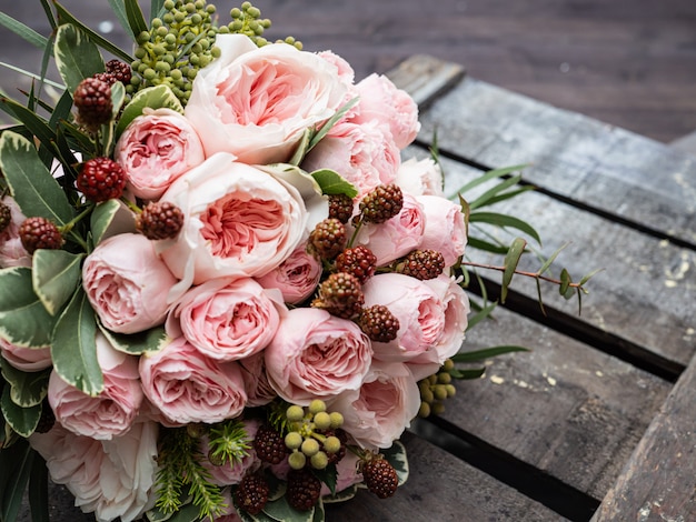
[[[186,217],[176,240],[157,242],[185,287],[271,271],[302,240],[308,219],[295,187],[226,153],[183,174],[160,201]]]

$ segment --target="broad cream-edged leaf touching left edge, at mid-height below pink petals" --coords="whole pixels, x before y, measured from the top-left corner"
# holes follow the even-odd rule
[[[54,319],[33,292],[31,270],[0,270],[0,337],[24,348],[51,344]]]

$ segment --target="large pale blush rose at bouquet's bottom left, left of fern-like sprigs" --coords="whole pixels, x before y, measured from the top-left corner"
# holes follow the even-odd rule
[[[46,459],[51,480],[64,484],[74,505],[95,512],[99,522],[131,522],[149,508],[157,473],[155,422],[136,422],[110,441],[76,435],[59,423],[33,433],[31,446]]]

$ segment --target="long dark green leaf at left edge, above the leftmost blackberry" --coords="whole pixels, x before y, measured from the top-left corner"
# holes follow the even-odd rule
[[[72,219],[73,210],[66,193],[29,140],[16,132],[0,135],[0,170],[24,215],[41,215],[57,224]]]

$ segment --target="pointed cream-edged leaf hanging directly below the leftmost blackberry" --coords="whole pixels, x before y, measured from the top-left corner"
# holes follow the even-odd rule
[[[84,254],[64,250],[37,250],[32,258],[33,291],[51,315],[56,315],[80,282]]]

